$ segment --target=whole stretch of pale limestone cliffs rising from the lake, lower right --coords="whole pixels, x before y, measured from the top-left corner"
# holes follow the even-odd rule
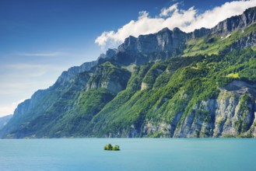
[[[234,81],[220,90],[218,99],[194,106],[174,137],[237,137],[254,130],[256,86]]]

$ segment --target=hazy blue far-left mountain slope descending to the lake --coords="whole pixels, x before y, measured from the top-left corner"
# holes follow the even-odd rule
[[[19,138],[20,136],[22,137],[23,134],[26,134],[26,131],[23,131],[23,129],[26,129],[30,120],[36,120],[37,117],[42,117],[44,116],[44,113],[51,110],[52,106],[60,105],[58,104],[58,100],[61,99],[62,96],[65,96],[68,89],[72,89],[76,75],[78,75],[79,72],[85,72],[86,70],[91,69],[96,63],[97,61],[86,62],[80,67],[68,69],[67,72],[61,74],[53,86],[48,89],[38,90],[33,94],[31,99],[26,99],[23,103],[20,103],[14,111],[14,117],[12,117],[9,123],[2,129],[0,135],[20,130],[20,133],[16,133],[16,138]],[[87,79],[89,79],[88,75],[80,80],[79,87],[76,87],[77,91],[83,89],[83,84],[86,85]],[[73,96],[68,98],[72,99],[72,97]],[[56,115],[58,114],[61,113],[56,112]]]

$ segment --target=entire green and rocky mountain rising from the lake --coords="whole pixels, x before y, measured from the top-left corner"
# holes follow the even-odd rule
[[[20,103],[2,138],[256,137],[256,8],[128,37]]]

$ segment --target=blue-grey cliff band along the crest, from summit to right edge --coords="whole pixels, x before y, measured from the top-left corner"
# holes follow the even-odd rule
[[[169,30],[164,28],[158,33],[128,37],[117,48],[119,52],[150,54],[153,52],[169,51],[170,54],[180,54],[187,40],[204,37],[205,35],[227,35],[233,30],[241,30],[256,22],[256,8],[247,9],[240,16],[232,16],[218,23],[212,29],[201,28],[191,33],[184,33],[178,28]]]

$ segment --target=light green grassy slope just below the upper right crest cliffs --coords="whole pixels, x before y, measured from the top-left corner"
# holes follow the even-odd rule
[[[244,27],[242,30],[234,30],[225,35],[207,34],[205,37],[190,39],[184,49],[183,56],[196,54],[226,54],[229,51],[255,47],[256,24]]]

